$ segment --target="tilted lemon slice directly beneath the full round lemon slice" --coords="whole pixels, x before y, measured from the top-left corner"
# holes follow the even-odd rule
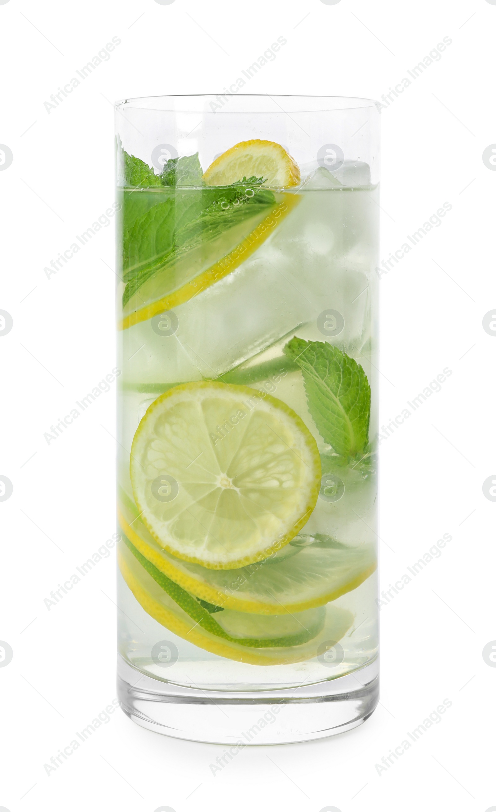
[[[372,544],[350,547],[338,542],[315,543],[315,538],[314,543],[305,543],[308,537],[297,536],[256,564],[230,570],[207,569],[181,561],[164,550],[123,493],[118,515],[123,534],[160,572],[196,598],[236,611],[283,615],[323,606],[356,590],[377,567]]]

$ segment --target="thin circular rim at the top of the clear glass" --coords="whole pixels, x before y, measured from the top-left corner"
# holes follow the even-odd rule
[[[350,104],[343,104],[343,106],[330,106],[330,107],[316,107],[313,109],[308,110],[294,110],[291,109],[291,113],[297,114],[316,114],[316,113],[337,113],[340,110],[365,110],[370,108],[376,108],[380,102],[375,101],[374,99],[369,99],[366,97],[360,96],[327,96],[327,95],[320,95],[320,94],[304,94],[304,93],[162,93],[153,96],[136,96],[131,98],[123,98],[119,99],[117,102],[114,103],[114,109],[118,110],[119,107],[126,107],[128,110],[149,110],[150,112],[160,112],[160,113],[175,113],[178,110],[167,110],[165,107],[152,107],[147,106],[145,102],[152,102],[154,99],[216,99],[218,97],[226,98],[226,99],[234,99],[234,98],[246,98],[246,99],[271,99],[274,101],[275,99],[304,99],[306,101],[311,99],[318,99],[322,102],[329,100],[329,102],[357,102],[354,105]],[[275,102],[277,104],[277,102]],[[204,109],[191,109],[191,110],[181,110],[180,112],[190,112],[190,113],[209,113],[208,110]],[[213,112],[213,111],[212,111]],[[222,110],[223,113],[231,113],[235,115],[239,114],[250,114],[250,115],[267,115],[269,113],[268,110]],[[287,115],[287,110],[271,110],[270,114],[285,114]]]

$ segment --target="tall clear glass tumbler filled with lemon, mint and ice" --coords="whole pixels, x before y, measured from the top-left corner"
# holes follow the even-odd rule
[[[231,745],[377,704],[379,113],[116,106],[119,699]]]

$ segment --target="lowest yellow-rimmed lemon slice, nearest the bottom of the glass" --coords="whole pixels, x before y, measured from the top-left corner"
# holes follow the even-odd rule
[[[143,607],[157,623],[162,624],[171,632],[183,637],[184,640],[199,646],[201,649],[218,654],[221,657],[237,660],[240,663],[252,665],[279,665],[282,663],[298,663],[317,656],[319,646],[325,641],[339,641],[353,624],[353,615],[347,609],[326,607],[326,618],[321,632],[313,639],[300,645],[269,646],[267,640],[261,640],[262,645],[248,646],[246,638],[244,644],[235,641],[225,633],[226,637],[219,637],[203,628],[197,620],[193,620],[173,598],[158,585],[149,572],[140,565],[136,557],[125,544],[118,546],[119,569],[132,594],[140,606]],[[218,613],[222,615],[222,612]],[[218,616],[218,615],[216,615]],[[252,642],[254,642],[252,640]]]

